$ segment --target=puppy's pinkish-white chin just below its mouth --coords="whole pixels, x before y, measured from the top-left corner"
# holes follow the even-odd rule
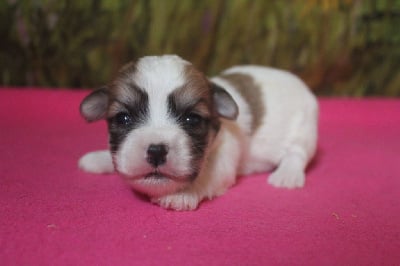
[[[143,176],[123,176],[137,192],[149,197],[161,197],[176,193],[190,184],[189,178],[168,177],[161,173],[149,173]]]

